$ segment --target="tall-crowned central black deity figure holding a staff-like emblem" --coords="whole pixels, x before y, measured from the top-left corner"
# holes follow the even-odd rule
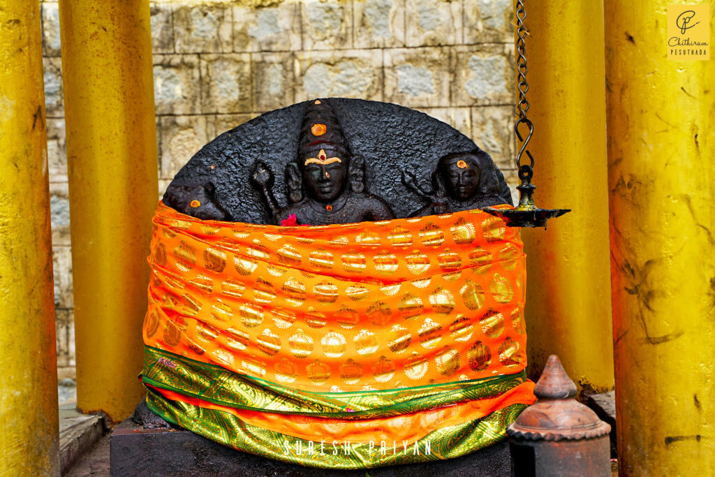
[[[261,192],[275,223],[295,218],[297,225],[327,225],[388,220],[388,204],[365,192],[365,160],[353,156],[329,104],[315,99],[305,112],[297,160],[285,171],[288,205],[272,193],[273,173],[262,161],[253,164],[251,180]],[[295,216],[295,217],[291,217]]]

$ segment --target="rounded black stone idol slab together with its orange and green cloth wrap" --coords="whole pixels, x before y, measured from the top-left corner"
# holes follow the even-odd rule
[[[420,200],[427,206],[415,211]],[[534,400],[522,373],[518,231],[486,212],[442,212],[503,203],[509,188],[486,152],[396,104],[315,99],[221,134],[177,172],[154,217],[142,382],[160,385],[147,386],[149,410],[291,464],[433,461],[385,461],[365,444],[397,432],[383,426],[395,405],[412,405],[408,385],[429,388],[404,415],[403,428],[420,432],[414,448],[445,428],[455,431],[443,441],[459,445],[442,446],[440,458],[495,443]],[[426,426],[445,393],[453,421]],[[468,402],[480,396],[488,402]],[[268,401],[277,407],[255,413]],[[339,430],[354,426],[345,435],[362,444],[330,459],[284,453],[287,439],[332,442],[337,431],[325,426],[295,436],[295,419],[326,416]]]

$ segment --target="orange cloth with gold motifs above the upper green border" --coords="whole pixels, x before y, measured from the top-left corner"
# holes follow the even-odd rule
[[[481,210],[279,227],[160,204],[151,247],[154,348],[322,393],[526,366],[523,245]]]

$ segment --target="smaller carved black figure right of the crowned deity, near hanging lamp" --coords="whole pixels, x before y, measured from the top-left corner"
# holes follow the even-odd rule
[[[415,174],[403,171],[403,184],[429,202],[412,215],[444,214],[511,204],[511,197],[504,197],[496,171],[489,154],[480,149],[441,157],[432,174],[430,189],[421,187]]]

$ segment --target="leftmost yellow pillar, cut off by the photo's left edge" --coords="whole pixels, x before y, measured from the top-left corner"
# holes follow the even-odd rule
[[[39,2],[0,8],[0,474],[59,476]]]

